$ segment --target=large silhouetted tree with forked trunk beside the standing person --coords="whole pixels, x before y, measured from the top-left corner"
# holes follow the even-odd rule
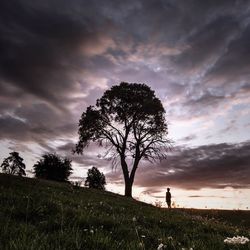
[[[82,113],[75,152],[82,153],[90,141],[108,147],[108,154],[113,152],[112,157],[119,159],[125,195],[131,197],[140,161],[166,157],[169,140],[164,115],[163,105],[150,87],[122,82]]]

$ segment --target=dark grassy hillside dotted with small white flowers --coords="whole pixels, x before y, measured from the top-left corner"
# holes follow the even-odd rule
[[[0,174],[0,249],[250,249],[249,212],[161,209],[110,192]]]

